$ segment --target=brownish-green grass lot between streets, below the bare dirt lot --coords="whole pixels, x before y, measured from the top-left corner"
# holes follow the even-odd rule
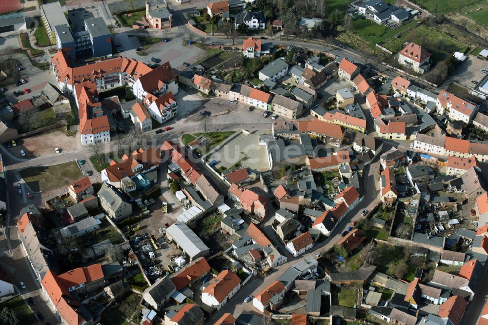
[[[29,167],[19,171],[33,192],[51,191],[78,181],[83,176],[76,162],[52,166]]]

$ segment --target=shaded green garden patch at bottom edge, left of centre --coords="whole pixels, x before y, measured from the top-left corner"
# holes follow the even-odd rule
[[[139,303],[141,295],[131,293],[123,297],[122,302],[110,305],[102,314],[102,324],[134,324],[139,321]],[[140,310],[140,309],[139,309]],[[134,316],[134,317],[132,317]],[[129,319],[130,322],[126,320]]]

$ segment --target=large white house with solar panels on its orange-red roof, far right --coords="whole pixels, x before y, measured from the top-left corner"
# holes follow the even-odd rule
[[[446,90],[442,90],[437,96],[436,105],[439,114],[447,113],[449,119],[463,121],[467,124],[472,121],[478,112],[476,104],[452,95]]]

